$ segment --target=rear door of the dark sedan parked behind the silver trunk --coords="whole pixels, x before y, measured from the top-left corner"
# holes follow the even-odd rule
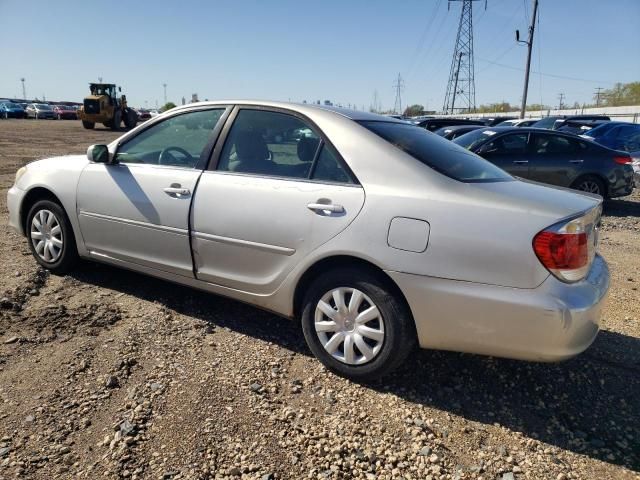
[[[566,135],[534,133],[531,144],[529,177],[537,182],[568,187],[588,162],[588,145]]]

